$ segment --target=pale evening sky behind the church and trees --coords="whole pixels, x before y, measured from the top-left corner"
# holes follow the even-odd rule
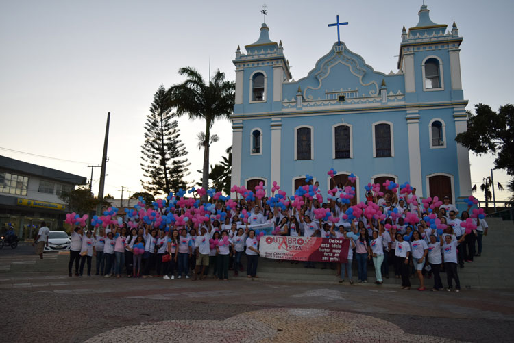
[[[263,1],[264,2],[264,1]],[[265,1],[270,38],[284,44],[295,79],[306,76],[336,39],[327,27],[336,14],[350,25],[341,40],[376,71],[397,71],[402,27],[417,24],[421,0]],[[514,1],[426,0],[435,23],[456,22],[461,72],[468,109],[487,103],[493,110],[513,103]],[[101,164],[106,114],[111,112],[106,194],[119,198],[121,186],[142,190],[140,146],[143,125],[160,86],[182,79],[193,66],[208,79],[219,68],[234,80],[236,47],[259,36],[262,3],[256,1],[0,0],[0,155],[82,175]],[[199,180],[202,152],[196,134],[203,121],[179,120],[191,175]],[[210,163],[232,144],[230,122],[214,125],[221,137]],[[35,155],[16,153],[5,149]],[[472,183],[490,175],[493,157],[470,153]],[[98,192],[99,168],[93,175]],[[509,176],[495,170],[506,186]],[[405,180],[400,180],[401,182]],[[476,194],[483,199],[482,194]],[[497,192],[497,200],[509,194]],[[124,197],[127,197],[125,192]]]

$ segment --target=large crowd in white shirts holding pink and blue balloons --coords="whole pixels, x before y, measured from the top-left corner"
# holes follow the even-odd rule
[[[75,276],[82,277],[87,266],[90,277],[95,256],[95,275],[103,277],[210,277],[226,281],[229,270],[235,276],[246,270],[247,277],[258,277],[260,237],[253,228],[266,223],[275,228],[271,233],[274,235],[349,240],[347,262],[330,266],[336,270],[340,283],[354,283],[352,264],[356,259],[358,283],[367,283],[372,262],[377,284],[389,278],[391,269],[394,277],[402,279],[402,289],[410,289],[411,277],[415,276],[419,280],[417,290],[426,290],[427,278],[433,279],[432,291],[444,290],[441,272],[445,272],[446,289],[452,290],[455,283],[455,291],[459,292],[458,266],[464,268],[465,263],[473,262],[482,253],[487,223],[483,216],[469,218],[471,204],[467,211],[459,213],[448,196],[430,203],[416,199],[415,188],[383,193],[367,188],[367,202],[352,205],[354,189],[347,186],[339,184],[329,192],[326,202],[320,201],[317,185],[311,183],[308,189],[314,192],[297,192],[290,199],[283,194],[275,200],[255,198],[253,192],[237,201],[211,196],[210,209],[208,203],[199,205],[196,200],[193,205],[178,195],[152,205],[140,202],[136,206],[140,216],[125,214],[117,222],[97,223],[94,231],[75,227],[71,233],[69,276],[75,264]],[[243,191],[245,195],[248,192]],[[370,210],[359,212],[365,207]],[[149,216],[143,218],[145,213]],[[172,223],[169,219],[156,220],[167,213],[168,218],[174,219]],[[315,266],[304,262],[305,268]]]

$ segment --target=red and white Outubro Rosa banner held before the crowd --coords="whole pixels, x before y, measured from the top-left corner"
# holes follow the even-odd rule
[[[346,263],[349,240],[319,237],[262,236],[260,257],[289,261]]]

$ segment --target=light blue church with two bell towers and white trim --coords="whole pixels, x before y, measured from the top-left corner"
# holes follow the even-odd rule
[[[367,183],[389,179],[408,181],[421,197],[449,196],[463,209],[469,153],[454,140],[467,129],[462,41],[455,23],[434,23],[423,5],[417,25],[402,30],[397,73],[374,71],[336,42],[295,81],[282,41],[271,41],[263,23],[258,40],[246,53],[238,47],[233,60],[232,185],[253,190],[263,181],[271,194],[277,181],[293,194],[313,175],[326,197],[354,173],[356,201],[365,201]]]

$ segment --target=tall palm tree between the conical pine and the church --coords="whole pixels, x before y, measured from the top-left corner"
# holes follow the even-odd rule
[[[229,118],[234,110],[234,82],[225,81],[225,73],[217,71],[206,84],[200,73],[187,66],[180,68],[178,73],[186,76],[186,81],[169,88],[169,97],[175,115],[187,114],[191,120],[201,118],[206,121],[204,145],[204,167],[201,186],[209,184],[209,142],[210,128],[218,119]]]

